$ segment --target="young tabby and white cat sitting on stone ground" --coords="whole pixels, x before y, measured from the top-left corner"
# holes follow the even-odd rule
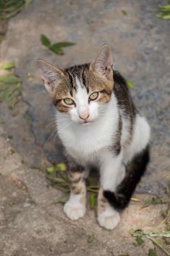
[[[56,108],[66,157],[71,194],[64,212],[71,220],[84,216],[85,179],[95,167],[100,174],[97,220],[114,229],[149,162],[150,126],[125,79],[113,70],[108,45],[91,63],[60,70],[38,60],[38,69]]]

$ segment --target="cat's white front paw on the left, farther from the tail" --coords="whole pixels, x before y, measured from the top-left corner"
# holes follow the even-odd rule
[[[69,219],[78,220],[79,218],[82,218],[86,213],[86,207],[80,202],[73,204],[73,202],[69,202],[68,200],[68,202],[66,202],[64,205],[64,212]]]

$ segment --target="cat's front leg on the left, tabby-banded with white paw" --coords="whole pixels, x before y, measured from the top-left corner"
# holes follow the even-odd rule
[[[86,212],[86,173],[87,171],[80,166],[68,171],[71,193],[69,200],[64,205],[64,212],[71,220],[82,218]]]

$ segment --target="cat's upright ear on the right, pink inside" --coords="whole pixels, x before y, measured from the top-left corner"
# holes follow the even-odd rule
[[[106,80],[113,79],[113,59],[108,45],[103,45],[90,64],[90,70],[103,76]]]

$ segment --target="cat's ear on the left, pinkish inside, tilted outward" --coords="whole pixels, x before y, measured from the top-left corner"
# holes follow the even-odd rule
[[[64,76],[63,72],[42,60],[38,60],[37,65],[46,90],[49,94],[53,94],[55,85],[57,85]]]

